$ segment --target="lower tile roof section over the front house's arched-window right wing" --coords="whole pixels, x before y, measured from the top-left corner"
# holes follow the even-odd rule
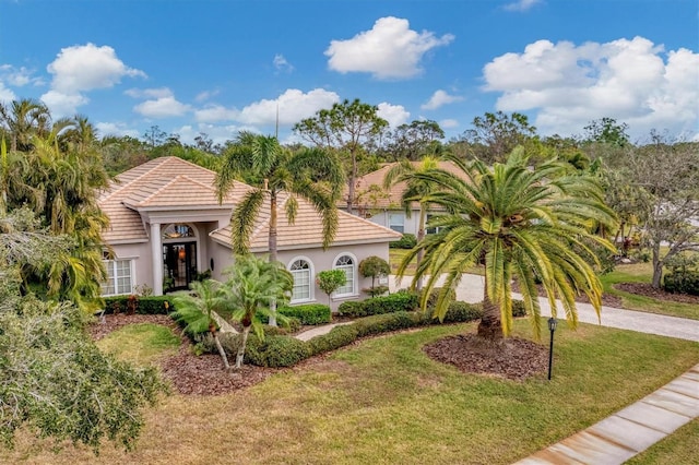
[[[322,219],[309,202],[297,199],[298,211],[296,220],[289,225],[284,213],[284,201],[279,202],[277,216],[277,249],[295,249],[318,247],[322,243]],[[369,243],[388,242],[401,238],[400,233],[395,233],[387,227],[377,225],[367,219],[351,215],[346,212],[337,212],[337,234],[333,245],[341,243]],[[253,252],[268,250],[269,238],[269,206],[263,207],[250,240],[250,250]],[[230,243],[230,225],[215,230],[211,237],[221,243]]]

